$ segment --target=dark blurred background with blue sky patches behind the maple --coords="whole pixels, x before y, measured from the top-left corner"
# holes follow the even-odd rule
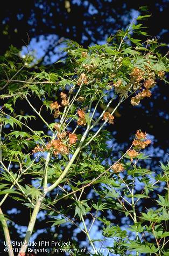
[[[143,5],[147,5],[152,14],[148,20],[144,21],[147,33],[152,38],[157,37],[160,42],[167,43],[167,3],[166,0],[6,0],[1,4],[0,10],[0,52],[3,55],[11,44],[23,49],[24,52],[25,48],[22,47],[25,43],[29,43],[28,38],[30,38],[30,50],[36,51],[37,49],[38,51],[37,65],[50,65],[62,57],[58,55],[57,48],[62,38],[73,39],[84,47],[95,43],[102,44],[115,31],[126,28],[132,18],[139,15],[139,7]],[[109,126],[107,129],[114,134],[113,141],[121,149],[129,143],[131,134],[135,134],[138,129],[146,131],[152,140],[151,146],[147,149],[152,160],[147,160],[146,164],[150,169],[160,172],[159,161],[165,164],[168,157],[168,86],[159,82],[152,91],[151,98],[144,99],[138,107],[131,106],[130,101],[126,100],[118,110],[114,130],[111,131]],[[15,201],[9,199],[3,205],[3,211],[13,220],[10,224],[12,240],[20,240],[19,235],[26,231],[30,212],[22,206],[16,209],[14,204]],[[117,215],[115,215],[114,223],[119,224]],[[55,228],[51,230],[50,226],[46,224],[42,213],[36,224],[39,239],[50,240],[57,235],[61,240],[67,241],[74,230],[74,227],[66,225],[60,227],[59,231]],[[79,243],[85,240],[82,233],[79,233],[77,238]],[[2,236],[1,239],[3,240]],[[3,255],[3,246],[1,246],[0,253]]]

